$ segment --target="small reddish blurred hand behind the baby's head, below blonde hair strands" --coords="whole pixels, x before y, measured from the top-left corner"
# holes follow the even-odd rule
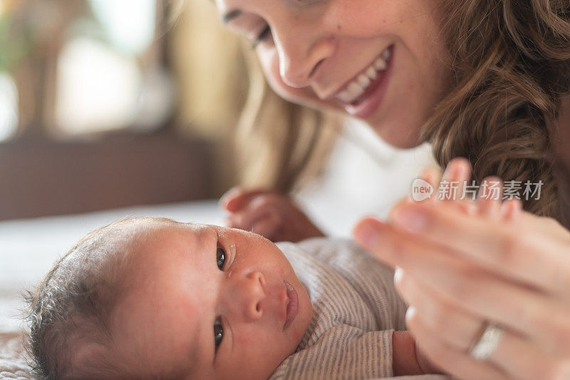
[[[232,188],[220,205],[229,212],[228,227],[252,231],[273,242],[324,236],[290,197],[279,192]]]

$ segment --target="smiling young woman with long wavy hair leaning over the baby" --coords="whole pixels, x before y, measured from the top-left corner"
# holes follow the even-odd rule
[[[466,180],[472,167],[478,184],[489,175],[541,183],[516,228],[402,202],[388,224],[368,218],[355,236],[402,268],[410,329],[444,371],[570,378],[570,2],[216,3],[224,24],[249,38],[274,93],[300,105],[252,75],[243,140],[268,145],[249,173],[278,190],[300,178],[342,114],[398,147],[430,141],[442,167],[468,158],[445,178]],[[255,224],[275,240],[320,233],[274,192],[234,190],[224,205],[231,225]]]

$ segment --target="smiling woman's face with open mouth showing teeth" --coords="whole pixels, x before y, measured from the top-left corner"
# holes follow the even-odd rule
[[[437,0],[216,2],[230,29],[257,40],[276,93],[365,120],[395,146],[418,144],[449,88]]]

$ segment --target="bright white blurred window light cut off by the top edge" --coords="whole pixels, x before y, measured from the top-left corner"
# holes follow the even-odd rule
[[[89,0],[108,41],[119,51],[140,54],[156,29],[156,0]]]

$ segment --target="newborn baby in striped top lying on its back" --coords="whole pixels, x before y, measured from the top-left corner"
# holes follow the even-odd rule
[[[78,242],[29,301],[46,379],[375,379],[393,376],[393,357],[425,368],[398,331],[392,269],[351,242],[120,220]]]

